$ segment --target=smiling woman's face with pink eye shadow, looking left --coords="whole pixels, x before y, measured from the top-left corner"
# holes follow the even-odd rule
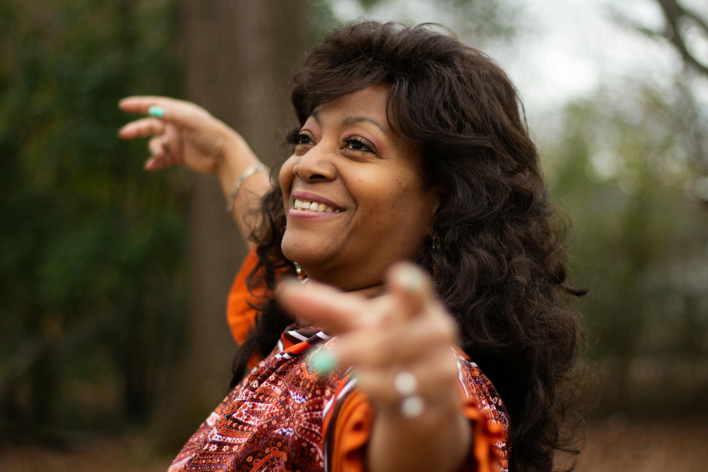
[[[280,170],[283,254],[345,290],[380,284],[389,265],[415,258],[440,204],[423,188],[420,149],[387,124],[387,93],[374,86],[317,108]]]

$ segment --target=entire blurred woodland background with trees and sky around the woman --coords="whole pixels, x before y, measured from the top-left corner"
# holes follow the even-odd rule
[[[0,0],[1,471],[164,470],[227,391],[244,243],[214,178],[142,171],[118,100],[194,100],[275,165],[304,51],[362,17],[520,90],[590,289],[578,470],[705,470],[704,0]]]

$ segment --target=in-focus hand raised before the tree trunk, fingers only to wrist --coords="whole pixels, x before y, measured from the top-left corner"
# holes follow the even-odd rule
[[[148,171],[180,165],[199,173],[215,173],[236,132],[194,103],[159,96],[120,100],[127,113],[151,115],[132,121],[118,131],[122,139],[151,137]]]

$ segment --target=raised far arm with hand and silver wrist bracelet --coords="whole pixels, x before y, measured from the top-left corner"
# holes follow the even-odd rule
[[[215,173],[226,199],[224,208],[232,207],[241,235],[247,240],[258,224],[258,217],[249,209],[256,208],[268,192],[270,180],[244,138],[204,108],[175,98],[128,97],[120,100],[119,107],[127,113],[150,115],[118,131],[122,139],[150,137],[152,156],[145,161],[145,169],[159,171],[177,165],[198,173]],[[232,199],[236,186],[238,192]]]

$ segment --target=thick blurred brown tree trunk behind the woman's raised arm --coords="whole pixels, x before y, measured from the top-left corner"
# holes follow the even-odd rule
[[[287,91],[312,42],[306,0],[181,0],[184,98],[234,127],[273,166],[291,118]],[[152,433],[162,448],[179,447],[224,397],[236,352],[225,307],[245,255],[224,212],[216,178],[195,175],[190,190],[190,319],[185,359]]]

